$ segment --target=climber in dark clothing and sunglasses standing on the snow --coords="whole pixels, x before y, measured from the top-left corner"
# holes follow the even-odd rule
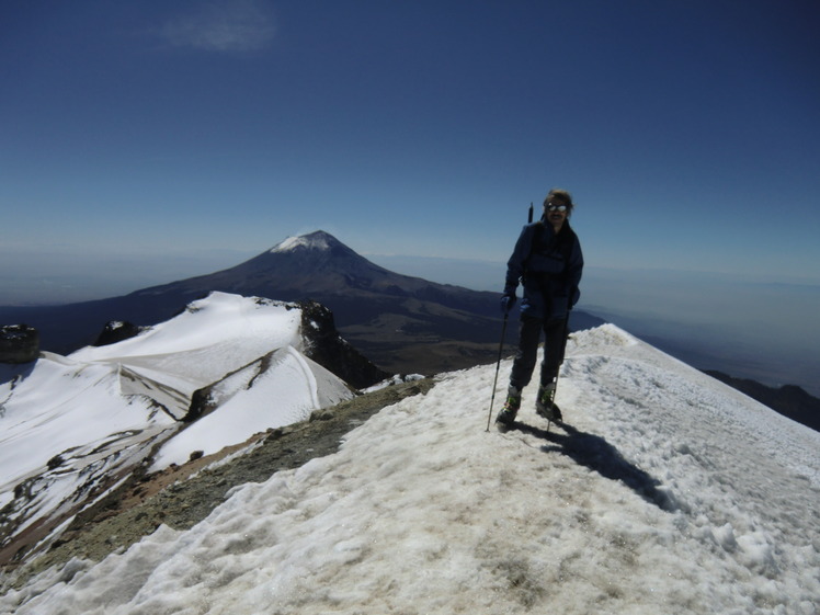
[[[573,207],[569,192],[551,190],[544,200],[542,219],[522,229],[506,263],[501,297],[504,315],[515,305],[519,282],[524,287],[524,298],[521,301],[519,351],[510,375],[506,402],[496,418],[502,426],[512,425],[521,408],[521,391],[529,384],[537,363],[542,330],[545,335],[544,361],[535,409],[546,419],[562,419],[553,397],[558,369],[563,362],[567,321],[581,295],[578,285],[583,271],[581,243],[569,225]]]

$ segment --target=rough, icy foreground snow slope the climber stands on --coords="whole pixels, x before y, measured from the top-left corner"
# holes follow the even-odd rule
[[[570,342],[566,429],[546,432],[531,386],[531,428],[487,432],[493,373],[443,375],[339,453],[0,612],[818,612],[816,432],[612,326]]]

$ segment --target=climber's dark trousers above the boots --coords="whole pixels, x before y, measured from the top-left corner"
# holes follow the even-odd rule
[[[551,383],[558,376],[563,362],[565,332],[567,319],[544,321],[532,316],[521,317],[519,333],[519,352],[513,362],[510,385],[522,390],[529,384],[533,369],[538,361],[538,342],[544,331],[544,361],[540,364],[540,384]]]

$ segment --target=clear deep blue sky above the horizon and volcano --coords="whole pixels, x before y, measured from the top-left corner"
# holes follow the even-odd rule
[[[816,0],[4,0],[0,304],[316,229],[500,288],[554,186],[610,282],[817,286],[819,27]]]

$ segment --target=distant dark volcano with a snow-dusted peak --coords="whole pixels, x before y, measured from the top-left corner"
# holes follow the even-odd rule
[[[0,321],[36,327],[44,349],[66,353],[90,344],[109,320],[152,324],[214,291],[317,300],[333,311],[349,342],[391,373],[435,374],[490,362],[498,354],[498,294],[390,272],[323,231],[288,238],[235,267],[123,297],[0,308]],[[583,312],[573,315],[574,328],[601,322]]]

